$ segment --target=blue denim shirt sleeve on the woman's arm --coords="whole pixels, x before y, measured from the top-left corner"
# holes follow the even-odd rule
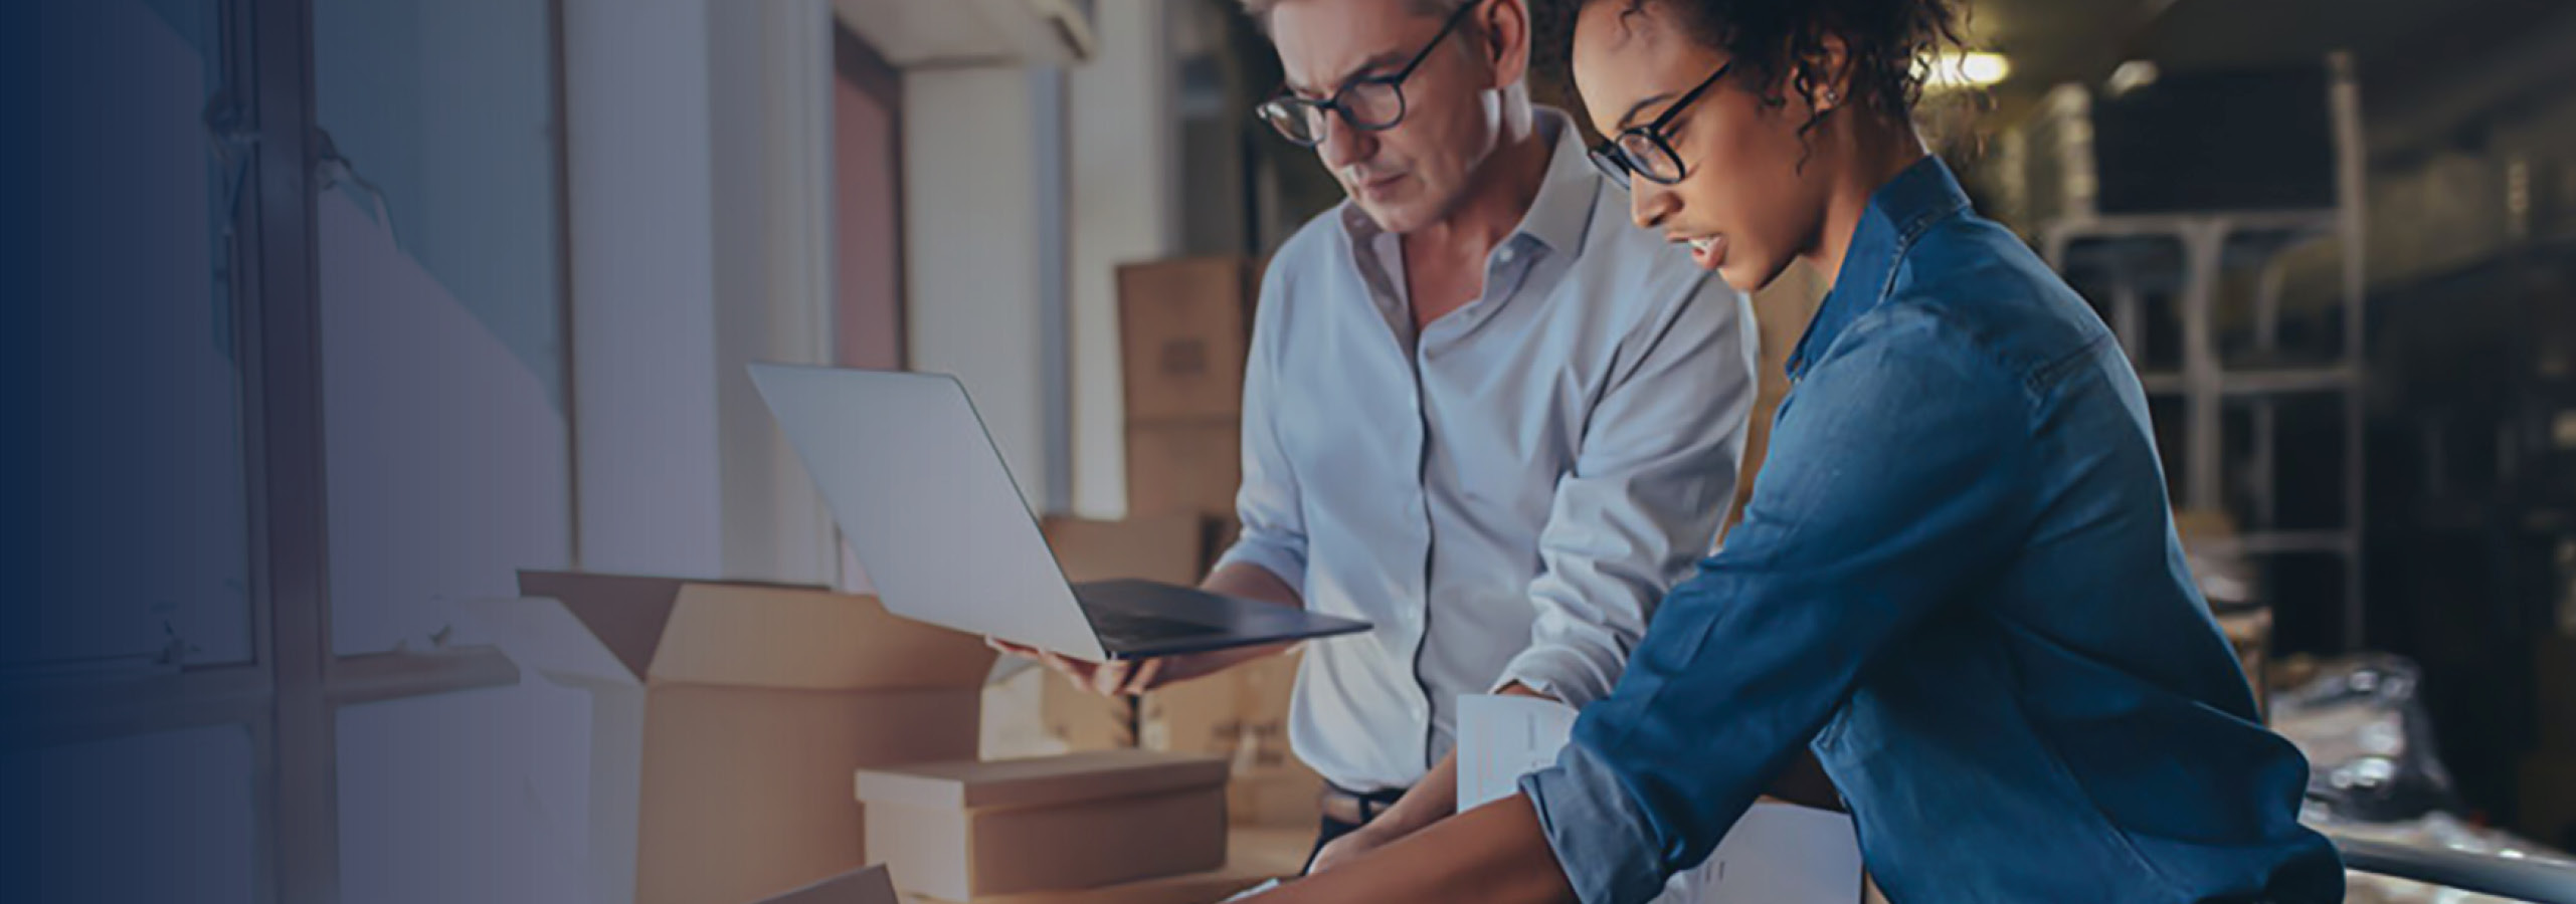
[[[1855,322],[1790,394],[1747,520],[1522,778],[1587,904],[1708,858],[1860,670],[2027,531],[2027,389],[1937,314]]]

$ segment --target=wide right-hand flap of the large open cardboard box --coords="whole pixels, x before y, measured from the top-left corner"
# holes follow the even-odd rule
[[[981,639],[899,618],[876,598],[688,582],[647,677],[814,690],[981,688],[992,657]]]

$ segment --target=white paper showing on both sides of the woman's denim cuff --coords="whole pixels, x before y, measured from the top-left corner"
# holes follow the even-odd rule
[[[1520,775],[1556,762],[1574,708],[1520,695],[1458,698],[1458,809],[1507,798]],[[1852,904],[1860,842],[1852,819],[1793,804],[1754,804],[1718,850],[1674,876],[1659,904]]]

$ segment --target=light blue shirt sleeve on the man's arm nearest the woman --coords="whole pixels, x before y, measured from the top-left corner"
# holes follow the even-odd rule
[[[1631,337],[1556,484],[1530,582],[1530,646],[1494,688],[1569,706],[1610,693],[1654,603],[1708,556],[1736,492],[1759,358],[1752,306],[1695,278]]]

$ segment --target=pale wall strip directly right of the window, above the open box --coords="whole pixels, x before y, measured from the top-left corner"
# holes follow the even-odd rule
[[[577,561],[719,574],[706,0],[564,0]]]

